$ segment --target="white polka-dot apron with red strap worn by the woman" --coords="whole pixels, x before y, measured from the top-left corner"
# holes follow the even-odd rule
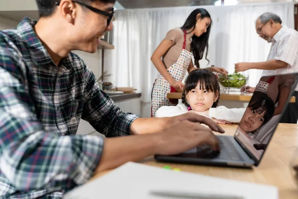
[[[184,40],[182,52],[178,60],[169,68],[167,71],[176,81],[182,81],[186,75],[187,68],[192,59],[192,53],[185,50],[186,46],[186,32],[184,31]],[[167,99],[166,95],[170,92],[174,92],[175,89],[170,86],[170,84],[162,77],[161,74],[158,74],[152,89],[151,94],[151,117],[154,116],[155,111],[164,105],[176,105]]]

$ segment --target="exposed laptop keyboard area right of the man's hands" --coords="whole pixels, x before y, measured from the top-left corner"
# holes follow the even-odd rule
[[[217,157],[217,159],[243,161],[242,157],[237,152],[237,148],[230,140],[229,136],[217,136],[217,138],[221,145],[221,153]]]

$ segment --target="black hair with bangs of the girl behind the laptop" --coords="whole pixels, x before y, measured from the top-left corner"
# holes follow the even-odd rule
[[[182,93],[182,103],[186,105],[187,108],[190,107],[189,103],[186,100],[186,95],[191,90],[195,89],[200,82],[200,89],[206,89],[207,91],[214,92],[217,95],[217,91],[219,93],[219,97],[212,104],[212,107],[217,107],[220,100],[220,84],[217,77],[207,69],[196,69],[189,73],[185,80],[185,87]],[[205,88],[203,88],[205,87]]]

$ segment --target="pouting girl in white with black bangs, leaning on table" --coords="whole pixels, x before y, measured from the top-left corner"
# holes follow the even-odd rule
[[[188,111],[213,118],[218,123],[240,122],[245,108],[219,106],[220,85],[217,77],[209,70],[192,71],[186,81],[182,103],[176,106],[162,106],[155,117],[176,116]]]

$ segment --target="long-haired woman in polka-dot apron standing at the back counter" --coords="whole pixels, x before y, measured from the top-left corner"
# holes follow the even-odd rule
[[[151,93],[151,117],[159,107],[175,105],[173,101],[167,99],[167,93],[183,89],[182,80],[186,71],[189,73],[200,68],[199,60],[203,58],[205,49],[207,59],[211,24],[212,20],[208,11],[204,8],[197,8],[191,12],[181,28],[168,31],[155,49],[151,61],[159,74]],[[192,63],[192,56],[194,56],[196,68]],[[211,67],[209,70],[227,74],[224,68]]]

